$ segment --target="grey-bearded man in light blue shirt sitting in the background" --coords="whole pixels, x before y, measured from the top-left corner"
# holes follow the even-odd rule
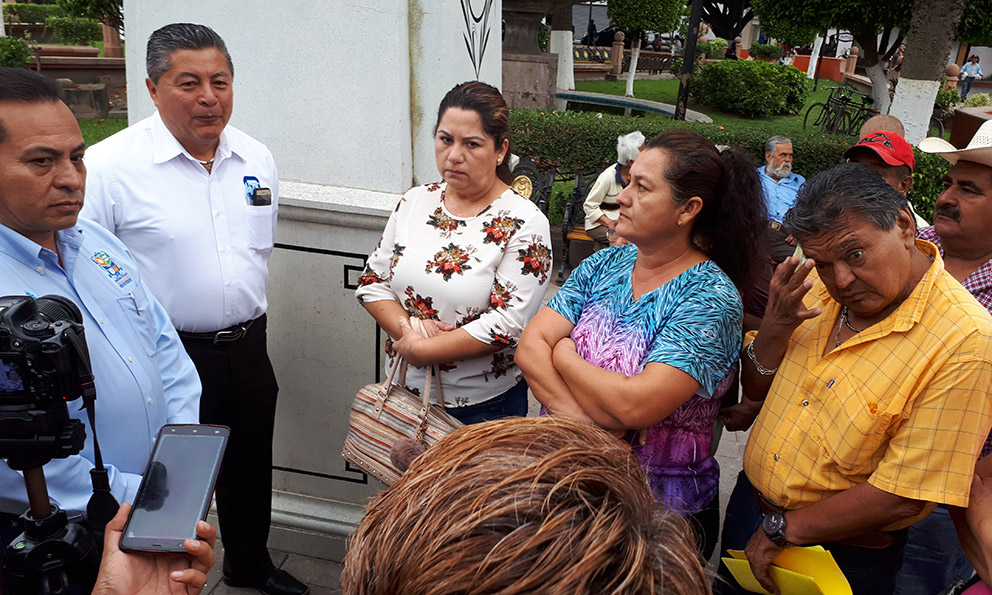
[[[768,251],[775,262],[788,258],[795,248],[786,242],[782,217],[796,204],[796,195],[806,178],[792,173],[792,141],[773,136],[765,143],[765,165],[758,168],[761,188],[768,208]]]

